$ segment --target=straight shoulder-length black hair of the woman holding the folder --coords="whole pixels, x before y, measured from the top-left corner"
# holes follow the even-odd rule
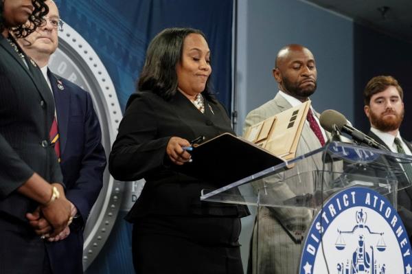
[[[176,94],[178,84],[176,65],[181,61],[183,42],[189,34],[200,34],[206,39],[201,30],[188,27],[171,27],[153,38],[137,83],[139,91],[152,91],[165,100],[170,100]],[[207,78],[202,95],[216,102],[212,95],[210,77]]]

